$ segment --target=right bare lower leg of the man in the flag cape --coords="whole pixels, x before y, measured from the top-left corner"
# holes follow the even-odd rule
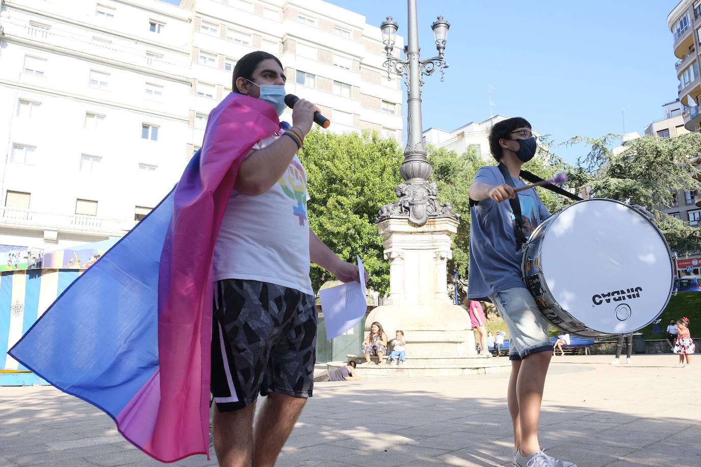
[[[304,408],[306,398],[271,392],[256,419],[253,466],[274,466],[280,449]]]

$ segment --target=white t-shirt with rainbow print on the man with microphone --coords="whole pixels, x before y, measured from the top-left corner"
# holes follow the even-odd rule
[[[253,148],[277,138],[261,139]],[[307,200],[306,172],[297,155],[265,193],[247,196],[233,190],[215,246],[214,280],[250,279],[313,295]]]

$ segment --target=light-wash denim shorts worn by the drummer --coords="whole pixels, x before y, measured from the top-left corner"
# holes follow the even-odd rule
[[[550,323],[538,309],[536,300],[525,287],[512,287],[489,295],[509,329],[509,360],[523,360],[527,355],[552,352]]]

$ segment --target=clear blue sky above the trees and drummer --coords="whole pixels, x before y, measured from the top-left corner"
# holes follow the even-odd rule
[[[327,0],[369,24],[386,16],[406,36],[407,2]],[[170,3],[178,3],[172,0]],[[418,0],[422,57],[435,53],[431,23],[451,23],[445,81],[423,86],[423,127],[454,130],[493,112],[523,116],[555,141],[643,132],[677,97],[667,15],[678,0]],[[554,148],[569,162],[583,148]]]

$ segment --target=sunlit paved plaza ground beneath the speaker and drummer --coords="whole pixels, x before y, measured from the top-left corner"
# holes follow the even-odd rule
[[[579,467],[701,466],[701,360],[611,358],[553,357],[546,452]],[[317,383],[278,466],[510,466],[507,382],[508,372]],[[0,387],[0,404],[0,467],[163,465],[100,410],[50,386]],[[213,451],[171,465],[215,466]]]

